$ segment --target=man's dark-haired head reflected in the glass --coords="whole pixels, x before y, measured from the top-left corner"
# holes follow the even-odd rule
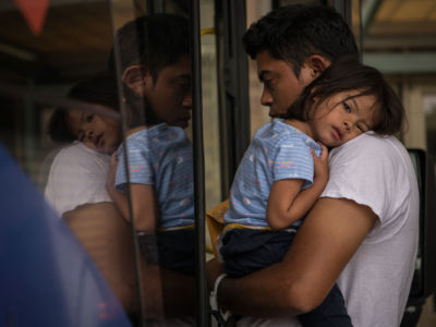
[[[118,31],[126,100],[137,109],[131,120],[187,126],[192,107],[187,35],[187,20],[170,14],[138,17]],[[114,61],[112,51],[109,69]]]

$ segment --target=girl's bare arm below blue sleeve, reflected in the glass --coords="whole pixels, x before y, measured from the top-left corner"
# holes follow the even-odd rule
[[[132,219],[129,208],[129,198],[125,194],[117,191],[114,186],[117,166],[117,155],[113,154],[110,160],[107,189],[110,197],[112,198],[117,208],[120,210],[121,215],[124,217],[124,219],[131,221]],[[137,231],[154,232],[156,230],[158,213],[155,187],[145,184],[131,184],[130,192],[135,229]]]

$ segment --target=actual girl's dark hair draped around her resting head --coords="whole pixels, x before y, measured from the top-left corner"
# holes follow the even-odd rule
[[[360,63],[354,57],[334,61],[319,77],[304,88],[282,118],[310,121],[319,104],[344,90],[360,90],[358,95],[347,99],[364,95],[376,98],[374,106],[378,107],[378,122],[372,129],[374,132],[391,135],[401,130],[404,108],[397,94],[378,70]]]

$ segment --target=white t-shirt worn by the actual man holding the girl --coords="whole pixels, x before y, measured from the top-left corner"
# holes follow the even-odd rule
[[[353,326],[399,326],[419,237],[419,191],[410,156],[397,138],[366,133],[332,149],[329,166],[322,197],[350,198],[378,216],[338,279]],[[238,326],[300,324],[294,317],[247,317]]]

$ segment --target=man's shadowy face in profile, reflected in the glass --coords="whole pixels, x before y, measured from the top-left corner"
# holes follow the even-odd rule
[[[178,63],[162,69],[153,81],[145,76],[144,96],[155,114],[168,125],[187,128],[191,119],[191,65],[184,57]]]

